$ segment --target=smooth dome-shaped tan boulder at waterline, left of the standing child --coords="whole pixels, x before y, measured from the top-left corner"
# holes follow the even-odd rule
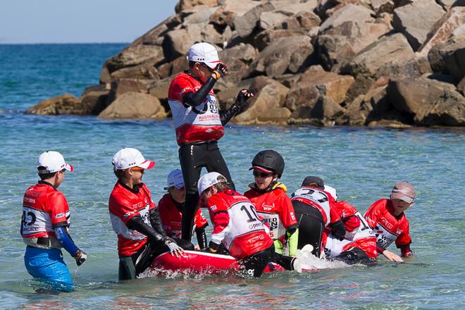
[[[149,94],[127,92],[102,111],[99,118],[165,118],[166,112],[159,99]]]

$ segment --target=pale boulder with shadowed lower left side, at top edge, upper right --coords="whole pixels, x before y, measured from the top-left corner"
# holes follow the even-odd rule
[[[435,0],[417,0],[395,9],[392,25],[407,37],[411,48],[416,51],[444,14],[445,11]]]

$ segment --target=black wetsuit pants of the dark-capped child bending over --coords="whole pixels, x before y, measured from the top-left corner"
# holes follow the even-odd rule
[[[294,206],[295,216],[299,223],[297,249],[302,249],[305,244],[311,244],[314,247],[311,253],[319,257],[321,253],[321,239],[325,228],[321,212],[313,206],[295,200],[292,201],[292,206]]]

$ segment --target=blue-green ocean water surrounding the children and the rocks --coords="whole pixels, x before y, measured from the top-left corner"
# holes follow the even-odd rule
[[[254,154],[273,148],[286,161],[282,181],[292,192],[306,175],[319,175],[364,212],[409,180],[417,191],[407,211],[415,256],[407,263],[339,266],[260,279],[171,275],[118,283],[116,235],[107,202],[115,182],[111,158],[136,147],[156,166],[144,175],[156,202],[166,175],[178,168],[173,122],[32,116],[43,99],[97,84],[104,60],[124,44],[0,45],[0,308],[1,309],[463,309],[465,280],[462,130],[416,128],[226,128],[220,147],[244,191]],[[77,268],[64,252],[77,290],[36,292],[25,271],[19,235],[24,191],[37,181],[42,151],[61,151],[73,163],[60,190],[71,209],[71,235],[89,254]],[[397,252],[394,246],[390,249]],[[335,266],[332,266],[335,267]]]

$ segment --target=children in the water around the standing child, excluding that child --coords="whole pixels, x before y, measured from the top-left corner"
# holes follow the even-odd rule
[[[156,206],[142,182],[144,171],[153,166],[137,149],[121,149],[113,156],[118,181],[110,195],[109,213],[118,235],[120,280],[137,278],[163,252],[182,259],[184,250],[229,254],[244,266],[245,273],[256,277],[272,261],[287,270],[302,271],[302,261],[295,257],[299,249],[347,263],[370,263],[378,254],[400,262],[400,256],[387,250],[395,242],[401,256],[411,255],[404,211],[414,204],[415,191],[408,182],[397,182],[389,199],[373,203],[362,216],[354,206],[337,201],[336,190],[316,176],[304,178],[302,186],[288,196],[278,181],[285,167],[283,157],[264,150],[252,160],[249,170],[254,182],[244,194],[235,192],[220,173],[206,173],[199,179],[199,206],[208,208],[213,233],[207,242],[209,223],[197,209],[192,225],[197,235],[194,247],[190,240],[181,239],[182,171],[169,173],[167,193]],[[68,233],[70,211],[57,188],[73,166],[58,152],[46,151],[39,156],[37,169],[41,180],[27,189],[23,199],[25,266],[34,278],[71,284],[61,248],[78,266],[87,254]]]

